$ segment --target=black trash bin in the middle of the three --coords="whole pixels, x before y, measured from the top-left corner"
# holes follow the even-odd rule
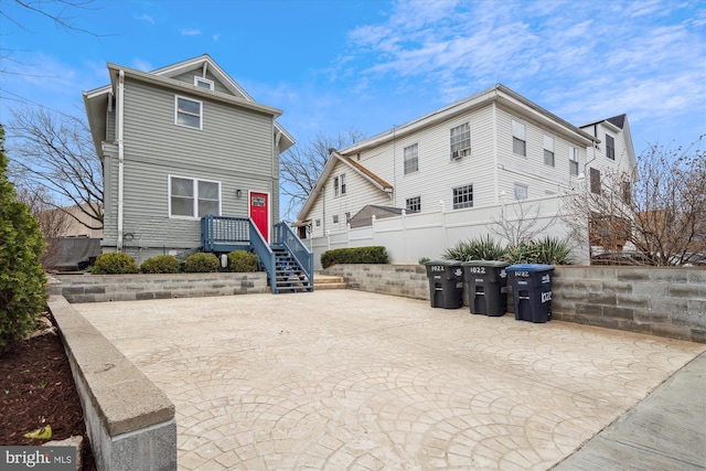
[[[507,312],[507,274],[510,264],[496,260],[471,260],[461,264],[473,314],[492,317]]]

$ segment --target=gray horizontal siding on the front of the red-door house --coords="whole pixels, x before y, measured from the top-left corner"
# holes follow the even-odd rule
[[[274,149],[272,117],[207,99],[202,103],[203,129],[178,126],[173,92],[126,81],[124,233],[132,234],[126,250],[200,244],[199,221],[169,217],[168,174],[221,181],[224,215],[247,216],[248,190],[268,192],[272,221],[278,220],[279,156]],[[110,179],[117,186],[117,159]],[[235,195],[238,189],[240,199]],[[106,243],[114,246],[117,188],[110,197],[116,210],[107,217],[106,238],[113,240]]]

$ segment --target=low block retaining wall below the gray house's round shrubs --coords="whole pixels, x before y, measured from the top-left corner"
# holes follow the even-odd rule
[[[267,292],[267,274],[58,275],[68,302],[136,301],[142,299]]]

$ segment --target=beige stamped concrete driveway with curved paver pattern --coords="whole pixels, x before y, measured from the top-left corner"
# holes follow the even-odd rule
[[[182,470],[544,470],[706,350],[352,290],[74,307],[176,406]]]

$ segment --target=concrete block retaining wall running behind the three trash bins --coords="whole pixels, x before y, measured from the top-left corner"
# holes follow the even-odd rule
[[[323,272],[343,277],[351,289],[429,300],[426,267],[420,265],[334,265]],[[463,299],[468,307],[467,292]],[[512,298],[507,307],[512,312]],[[706,269],[557,267],[552,315],[706,343]]]

